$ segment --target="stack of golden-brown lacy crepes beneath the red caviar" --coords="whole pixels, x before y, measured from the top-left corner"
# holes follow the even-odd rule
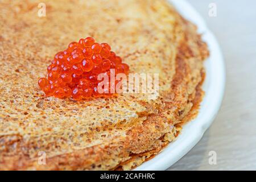
[[[0,2],[0,169],[126,170],[158,154],[196,116],[209,52],[162,0]],[[131,73],[159,73],[159,97],[73,101],[37,84],[56,52],[92,36]],[[182,132],[182,130],[181,130]],[[41,151],[41,153],[40,153]],[[46,164],[39,162],[46,154]]]

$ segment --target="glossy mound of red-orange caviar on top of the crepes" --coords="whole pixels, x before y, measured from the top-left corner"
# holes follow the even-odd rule
[[[47,67],[48,78],[40,78],[38,85],[46,96],[57,98],[108,97],[110,93],[97,90],[98,74],[109,76],[110,69],[115,69],[115,74],[129,72],[129,66],[111,51],[109,44],[96,43],[90,37],[70,43],[67,49],[56,53],[51,63]]]

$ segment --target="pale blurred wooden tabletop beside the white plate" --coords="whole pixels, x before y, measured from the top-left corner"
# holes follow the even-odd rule
[[[256,1],[188,0],[216,35],[226,63],[221,109],[199,143],[168,170],[256,170]],[[217,16],[208,15],[216,3]],[[217,154],[210,165],[209,152]]]

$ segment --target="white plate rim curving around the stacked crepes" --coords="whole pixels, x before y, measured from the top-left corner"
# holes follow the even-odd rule
[[[206,79],[203,85],[204,100],[197,118],[183,126],[181,134],[155,158],[148,160],[135,170],[165,170],[182,158],[203,137],[220,109],[225,89],[225,64],[217,40],[207,28],[203,18],[184,0],[170,0],[184,18],[195,23],[207,42],[210,57],[205,62]]]

